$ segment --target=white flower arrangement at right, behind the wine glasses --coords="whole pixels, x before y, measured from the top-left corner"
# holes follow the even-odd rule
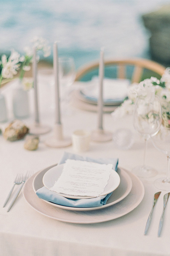
[[[134,83],[129,86],[128,97],[120,107],[112,112],[114,118],[123,117],[125,114],[132,114],[134,104],[138,96],[158,95],[162,104],[162,119],[166,127],[170,126],[170,68],[166,68],[162,78],[155,77],[145,79],[139,84]]]

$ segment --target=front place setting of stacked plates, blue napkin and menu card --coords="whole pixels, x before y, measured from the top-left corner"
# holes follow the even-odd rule
[[[139,178],[118,167],[118,159],[91,159],[67,152],[58,165],[34,174],[23,188],[34,210],[72,223],[119,218],[135,209],[144,193]]]

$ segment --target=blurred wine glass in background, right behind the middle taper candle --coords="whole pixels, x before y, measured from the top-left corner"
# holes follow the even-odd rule
[[[70,86],[75,80],[75,64],[73,58],[61,57],[58,59],[61,102],[68,103]]]

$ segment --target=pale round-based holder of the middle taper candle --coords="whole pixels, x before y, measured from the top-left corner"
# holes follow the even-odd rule
[[[62,124],[55,124],[53,137],[46,140],[45,144],[52,148],[64,148],[72,144],[70,138],[63,138]]]

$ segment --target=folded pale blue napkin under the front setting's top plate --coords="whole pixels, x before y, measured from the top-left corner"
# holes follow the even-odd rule
[[[72,153],[64,152],[59,164],[64,164],[67,159],[74,159],[74,160],[81,160],[81,161],[89,161],[89,162],[97,162],[100,164],[113,164],[113,169],[117,171],[118,166],[118,158],[99,158],[99,159],[92,159],[89,157],[83,157],[79,155],[75,155]],[[107,203],[108,198],[111,196],[112,193],[109,193],[105,196],[99,196],[95,198],[88,198],[88,199],[70,199],[57,194],[49,190],[46,187],[39,188],[36,191],[36,194],[39,198],[44,199],[46,201],[60,204],[62,206],[68,207],[97,207],[102,206]]]

